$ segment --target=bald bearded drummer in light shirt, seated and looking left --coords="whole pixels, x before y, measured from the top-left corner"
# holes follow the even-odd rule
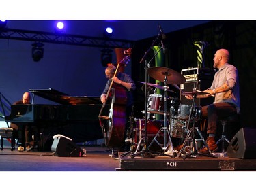
[[[219,49],[214,54],[213,67],[218,69],[214,75],[212,86],[203,92],[207,94],[197,95],[197,98],[208,98],[215,96],[214,103],[201,108],[203,118],[208,119],[206,143],[211,152],[218,151],[215,142],[218,118],[227,117],[240,113],[240,94],[238,70],[229,64],[229,51]],[[193,99],[192,95],[186,95],[187,99]],[[203,147],[199,152],[208,154],[207,147]]]

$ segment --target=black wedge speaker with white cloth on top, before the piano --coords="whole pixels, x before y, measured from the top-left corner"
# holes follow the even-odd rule
[[[55,153],[56,156],[83,156],[83,150],[81,150],[79,146],[73,143],[70,138],[63,135],[55,135],[53,136],[53,139],[54,140],[53,145],[51,146],[51,150]]]

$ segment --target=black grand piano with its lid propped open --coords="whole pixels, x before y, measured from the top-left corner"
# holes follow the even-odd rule
[[[39,150],[51,150],[53,135],[60,133],[76,143],[104,137],[98,120],[100,97],[70,96],[53,88],[30,89],[31,105],[11,105],[6,122],[30,124],[40,129]],[[56,104],[35,104],[35,96]]]

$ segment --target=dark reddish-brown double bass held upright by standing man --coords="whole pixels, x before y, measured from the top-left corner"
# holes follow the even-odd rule
[[[113,77],[117,75],[121,65],[126,65],[128,63],[131,53],[131,48],[124,51],[124,54],[127,56],[117,64]],[[108,112],[109,116],[102,116],[103,109],[105,108],[108,99],[111,99]],[[124,141],[124,131],[126,127],[126,102],[126,88],[122,85],[116,84],[112,80],[106,94],[106,102],[102,104],[102,108],[98,116],[102,133],[104,134],[104,141],[108,147],[121,147],[123,145],[122,141]]]

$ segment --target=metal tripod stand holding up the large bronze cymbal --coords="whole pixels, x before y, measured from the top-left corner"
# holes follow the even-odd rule
[[[161,147],[160,143],[156,139],[156,137],[158,137],[158,135],[162,131],[164,132],[163,147]],[[167,144],[167,135],[169,138],[168,144]],[[171,142],[171,135],[170,135],[169,129],[167,128],[167,75],[165,75],[165,79],[164,79],[164,127],[160,128],[160,130],[156,133],[149,147],[154,143],[154,141],[161,147],[162,150],[167,150],[167,148],[169,148],[170,153],[172,154],[175,153],[173,150],[173,143]],[[170,156],[169,154],[164,154],[164,155]]]

